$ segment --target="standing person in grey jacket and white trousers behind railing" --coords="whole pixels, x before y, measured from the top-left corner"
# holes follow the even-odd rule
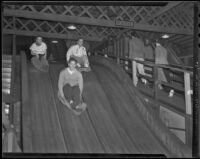
[[[129,57],[135,60],[144,61],[143,48],[143,41],[139,39],[134,32],[132,32],[131,39],[129,41]],[[133,61],[133,83],[135,86],[137,86],[138,83],[137,71],[139,74],[145,75],[144,65]],[[147,83],[146,79],[141,78],[141,80],[143,83]]]

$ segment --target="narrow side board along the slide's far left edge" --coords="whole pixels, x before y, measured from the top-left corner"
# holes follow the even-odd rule
[[[28,66],[25,51],[21,56],[21,147],[23,152],[32,151],[31,118],[29,109]]]

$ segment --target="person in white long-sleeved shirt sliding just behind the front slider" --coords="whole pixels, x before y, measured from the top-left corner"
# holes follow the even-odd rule
[[[89,61],[86,53],[86,49],[83,46],[83,39],[79,39],[76,45],[69,48],[66,54],[66,60],[69,61],[70,57],[77,60],[78,67],[89,67]]]

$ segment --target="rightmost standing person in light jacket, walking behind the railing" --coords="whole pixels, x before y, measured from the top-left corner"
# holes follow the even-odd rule
[[[156,47],[155,47],[155,63],[165,64],[165,65],[169,64],[167,60],[167,50],[159,42],[156,42]],[[162,68],[158,68],[158,80],[167,82],[167,78]],[[159,84],[158,87],[159,89],[163,89],[161,84]],[[173,94],[174,94],[174,90],[171,89],[169,92],[169,97],[172,97]]]

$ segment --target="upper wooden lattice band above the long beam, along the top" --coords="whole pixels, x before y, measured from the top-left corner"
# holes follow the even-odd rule
[[[87,17],[99,20],[126,20],[139,23],[162,7],[143,6],[66,6],[66,5],[5,5],[6,9]]]

